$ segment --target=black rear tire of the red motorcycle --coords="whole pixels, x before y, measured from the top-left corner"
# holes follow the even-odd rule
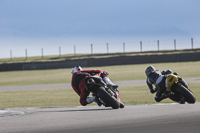
[[[112,97],[103,87],[97,89],[97,94],[107,106],[111,106],[113,109],[118,109],[120,107],[120,103],[117,99]]]

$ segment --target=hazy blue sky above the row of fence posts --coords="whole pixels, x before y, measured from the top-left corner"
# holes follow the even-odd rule
[[[0,58],[200,47],[199,0],[0,0]],[[170,44],[170,46],[167,46]],[[145,46],[146,45],[146,46]],[[2,47],[3,46],[3,47]]]

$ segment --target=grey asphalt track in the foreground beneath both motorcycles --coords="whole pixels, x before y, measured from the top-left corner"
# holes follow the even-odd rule
[[[2,113],[1,113],[2,112]],[[0,112],[2,133],[199,133],[200,103],[11,108]]]

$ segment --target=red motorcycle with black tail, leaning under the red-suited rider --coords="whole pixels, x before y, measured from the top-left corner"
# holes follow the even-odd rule
[[[103,79],[98,76],[89,76],[85,81],[87,90],[92,92],[105,107],[124,108],[124,104],[120,100],[119,90],[116,87],[107,86]]]

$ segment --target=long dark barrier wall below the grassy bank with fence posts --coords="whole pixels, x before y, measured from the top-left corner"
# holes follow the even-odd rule
[[[183,61],[200,61],[200,52],[185,52],[173,54],[152,54],[152,55],[135,55],[135,56],[116,56],[108,58],[88,58],[74,59],[65,61],[49,62],[25,62],[25,63],[6,63],[0,64],[0,71],[16,70],[43,70],[43,69],[60,69],[72,68],[80,65],[82,67],[144,64],[144,63],[163,63],[163,62],[183,62]]]

